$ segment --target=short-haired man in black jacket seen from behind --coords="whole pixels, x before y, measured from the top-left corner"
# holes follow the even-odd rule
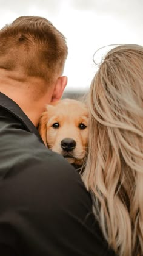
[[[2,256],[107,255],[90,194],[36,129],[62,96],[66,57],[64,36],[45,18],[23,16],[0,31]]]

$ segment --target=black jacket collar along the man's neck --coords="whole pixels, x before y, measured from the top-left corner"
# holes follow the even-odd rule
[[[19,105],[16,104],[15,101],[13,101],[12,99],[10,99],[8,96],[6,96],[1,92],[0,92],[0,107],[12,113],[13,116],[15,116],[16,118],[19,119],[19,121],[21,121],[21,123],[29,132],[34,133],[42,141],[42,138],[39,135],[38,130],[36,129],[32,121],[30,121],[28,116],[25,115],[25,113],[22,111]]]

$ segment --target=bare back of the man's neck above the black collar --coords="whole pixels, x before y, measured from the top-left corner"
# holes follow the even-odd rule
[[[41,113],[45,110],[45,105],[50,102],[50,95],[47,93],[41,98],[34,97],[32,86],[36,84],[40,86],[40,83],[41,80],[36,78],[26,80],[21,76],[21,79],[13,79],[10,77],[10,73],[0,69],[1,93],[15,101],[36,127]]]

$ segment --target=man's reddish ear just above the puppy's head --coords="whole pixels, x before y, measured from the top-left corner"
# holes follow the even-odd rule
[[[67,85],[67,76],[58,77],[53,90],[51,102],[59,101],[62,97],[62,93]]]

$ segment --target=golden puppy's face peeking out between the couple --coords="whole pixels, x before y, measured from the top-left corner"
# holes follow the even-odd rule
[[[39,133],[49,149],[68,162],[82,165],[87,149],[88,113],[84,103],[64,99],[47,105],[39,121]]]

